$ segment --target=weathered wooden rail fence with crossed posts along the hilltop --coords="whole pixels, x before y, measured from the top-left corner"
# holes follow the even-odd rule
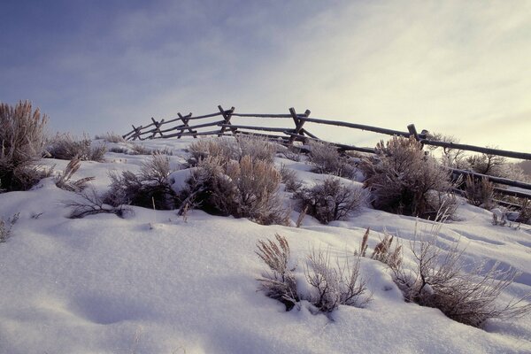
[[[182,136],[193,136],[194,138],[197,138],[198,136],[203,135],[259,135],[287,145],[291,145],[294,142],[308,142],[309,140],[325,142],[320,140],[316,135],[310,133],[307,129],[307,126],[304,126],[305,123],[312,123],[319,125],[364,130],[383,135],[397,135],[406,137],[413,136],[417,141],[423,143],[424,145],[443,147],[445,149],[480,152],[483,154],[501,156],[505,158],[531,160],[531,154],[525,152],[497,150],[455,142],[440,142],[430,140],[427,138],[426,131],[423,130],[421,133],[418,133],[416,127],[413,124],[407,127],[407,131],[399,131],[383,127],[372,127],[362,124],[343,122],[339,120],[311,118],[311,112],[309,110],[306,110],[303,114],[300,114],[297,113],[294,108],[289,108],[289,113],[286,114],[256,114],[237,113],[235,112],[235,107],[231,107],[229,110],[225,110],[219,105],[218,111],[219,112],[214,112],[211,114],[205,114],[196,117],[194,117],[192,113],[189,113],[187,115],[177,113],[177,118],[168,120],[162,119],[160,121],[151,118],[150,124],[141,127],[132,126],[133,130],[127,133],[126,135],[123,135],[123,137],[127,140],[145,140],[160,138],[181,139]],[[231,119],[234,119],[235,117],[242,119],[287,120],[288,122],[291,122],[291,124],[294,126],[267,127],[266,125],[250,126],[245,124],[234,124]],[[204,123],[196,124],[195,122],[199,121],[200,119],[201,121],[204,121]],[[358,147],[350,144],[342,144],[337,142],[327,143],[335,145],[338,150],[342,151],[355,150],[366,153],[376,152],[374,148]],[[502,189],[496,187],[496,192],[499,194],[503,194],[506,196],[516,196],[520,198],[531,198],[531,183],[523,181],[512,181],[505,178],[493,177],[481,173],[474,173],[471,171],[464,171],[455,168],[452,168],[451,170],[454,176],[471,176],[474,179],[485,178],[498,185],[512,187],[512,189]]]

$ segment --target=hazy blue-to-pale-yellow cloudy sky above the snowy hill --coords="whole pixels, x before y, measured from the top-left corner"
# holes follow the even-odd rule
[[[32,101],[50,131],[125,134],[221,104],[531,150],[527,0],[3,0],[0,48],[0,101]]]

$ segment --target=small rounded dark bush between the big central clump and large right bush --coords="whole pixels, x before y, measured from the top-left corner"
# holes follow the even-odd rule
[[[363,189],[342,185],[334,177],[327,178],[311,189],[300,189],[295,197],[301,200],[303,208],[308,207],[308,214],[323,224],[347,218],[366,202]]]

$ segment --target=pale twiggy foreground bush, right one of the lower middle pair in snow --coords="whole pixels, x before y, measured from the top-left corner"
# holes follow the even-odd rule
[[[353,265],[330,265],[327,252],[312,251],[307,258],[304,273],[313,287],[309,301],[320,312],[333,312],[340,304],[361,307],[370,301],[366,293],[366,281],[359,276],[360,256],[355,256]]]

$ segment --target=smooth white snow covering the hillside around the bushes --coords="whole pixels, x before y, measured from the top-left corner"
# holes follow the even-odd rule
[[[187,158],[187,140],[142,143],[173,150],[175,168]],[[104,191],[109,170],[136,172],[145,158],[109,152],[107,162],[83,162],[76,177],[95,176]],[[304,162],[276,162],[306,184],[324,178]],[[66,163],[42,160],[58,171]],[[201,211],[185,221],[139,207],[125,219],[67,219],[62,202],[73,198],[51,178],[0,194],[0,217],[19,212],[12,237],[0,243],[0,353],[531,353],[531,316],[492,320],[484,329],[460,324],[405,303],[389,270],[370,258],[361,265],[373,292],[365,308],[341,305],[329,317],[304,306],[285,312],[257,291],[266,267],[256,243],[275,233],[289,241],[302,277],[312,249],[342,259],[358,249],[366,227],[370,250],[384,230],[407,246],[415,224],[428,229],[428,221],[370,208],[328,226],[307,216],[300,228]],[[522,271],[502,302],[531,291],[531,227],[492,226],[490,212],[465,202],[457,215],[443,225],[441,244],[459,240],[470,262],[492,259]]]

